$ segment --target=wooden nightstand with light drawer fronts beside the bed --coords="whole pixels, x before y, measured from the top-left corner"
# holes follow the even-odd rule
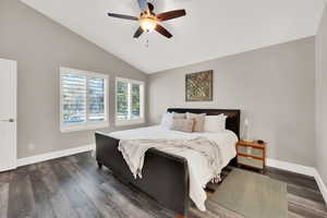
[[[261,170],[266,169],[266,144],[240,141],[237,144],[238,165]]]

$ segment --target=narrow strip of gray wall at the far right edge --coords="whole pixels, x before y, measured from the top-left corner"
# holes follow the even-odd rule
[[[316,164],[327,184],[327,8],[316,35]]]

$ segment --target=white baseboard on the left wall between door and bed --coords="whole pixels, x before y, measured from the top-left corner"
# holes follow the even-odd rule
[[[65,157],[65,156],[71,156],[71,155],[75,155],[75,154],[80,154],[80,153],[85,153],[85,152],[89,152],[89,150],[94,150],[94,149],[95,149],[95,145],[90,144],[90,145],[84,145],[81,147],[74,147],[74,148],[69,148],[69,149],[64,149],[64,150],[58,150],[58,152],[47,153],[47,154],[43,154],[43,155],[36,155],[36,156],[32,156],[32,157],[21,158],[21,159],[17,159],[17,167],[33,165],[36,162],[43,162],[43,161],[47,161],[47,160],[51,160],[51,159],[56,159],[56,158],[60,158],[60,157]]]

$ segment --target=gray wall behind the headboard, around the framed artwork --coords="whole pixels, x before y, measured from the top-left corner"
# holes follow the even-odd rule
[[[219,49],[219,48],[217,48]],[[214,70],[214,101],[185,102],[185,74]],[[149,122],[168,107],[242,110],[268,157],[315,166],[315,39],[305,38],[149,76]]]

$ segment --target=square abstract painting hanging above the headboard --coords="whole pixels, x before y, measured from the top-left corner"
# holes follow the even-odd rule
[[[186,74],[185,98],[186,101],[211,101],[213,100],[214,71],[203,71]]]

